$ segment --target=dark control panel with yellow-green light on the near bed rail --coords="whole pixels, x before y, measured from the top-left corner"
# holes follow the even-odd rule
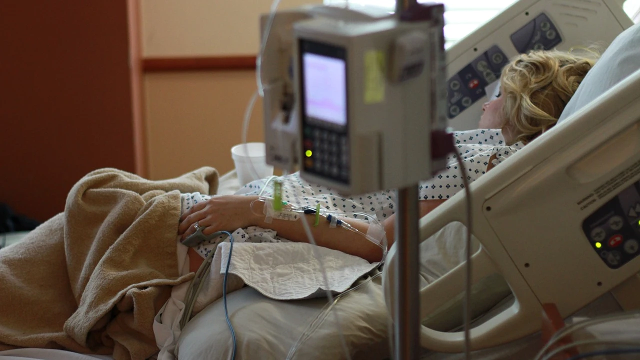
[[[640,254],[640,182],[625,188],[582,223],[604,263],[620,268]]]

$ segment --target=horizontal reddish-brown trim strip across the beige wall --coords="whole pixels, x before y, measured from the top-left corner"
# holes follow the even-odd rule
[[[195,70],[254,70],[255,56],[207,56],[193,58],[145,58],[144,72]]]

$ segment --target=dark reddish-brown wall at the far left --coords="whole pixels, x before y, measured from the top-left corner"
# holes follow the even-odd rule
[[[0,202],[38,220],[100,167],[134,171],[125,0],[0,2]]]

